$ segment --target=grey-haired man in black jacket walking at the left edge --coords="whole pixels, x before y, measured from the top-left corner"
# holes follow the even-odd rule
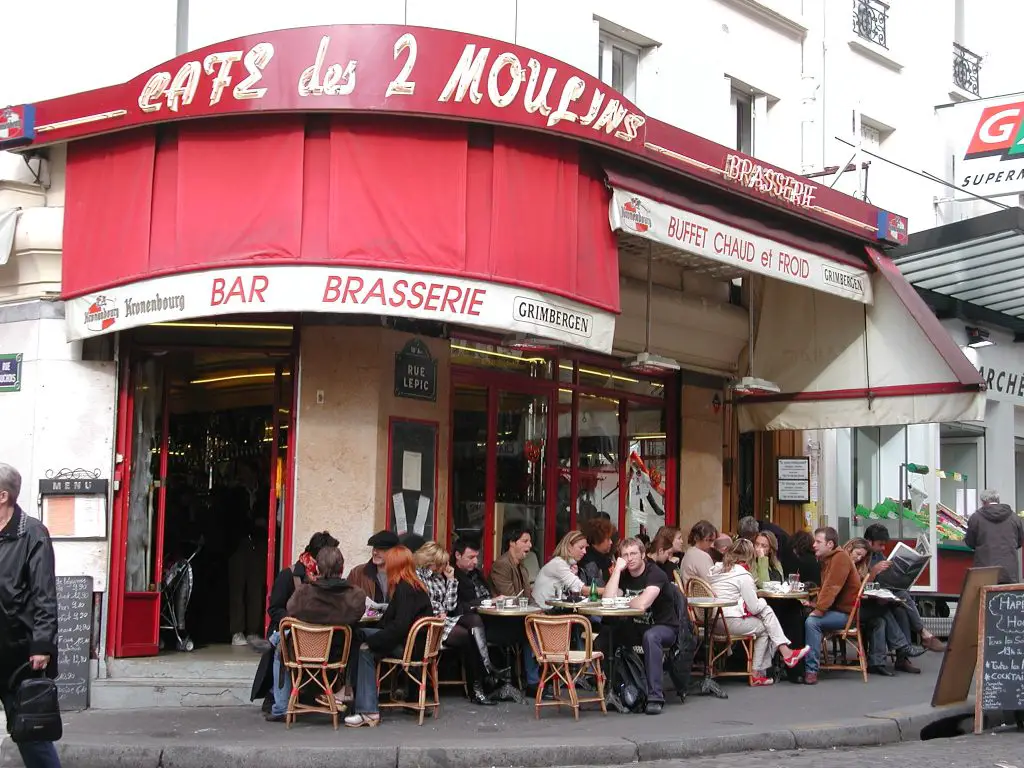
[[[14,719],[11,675],[23,665],[57,676],[57,584],[53,545],[39,520],[17,506],[22,475],[0,464],[0,697]],[[15,681],[17,683],[18,681]],[[60,768],[52,741],[17,745],[26,768]]]

